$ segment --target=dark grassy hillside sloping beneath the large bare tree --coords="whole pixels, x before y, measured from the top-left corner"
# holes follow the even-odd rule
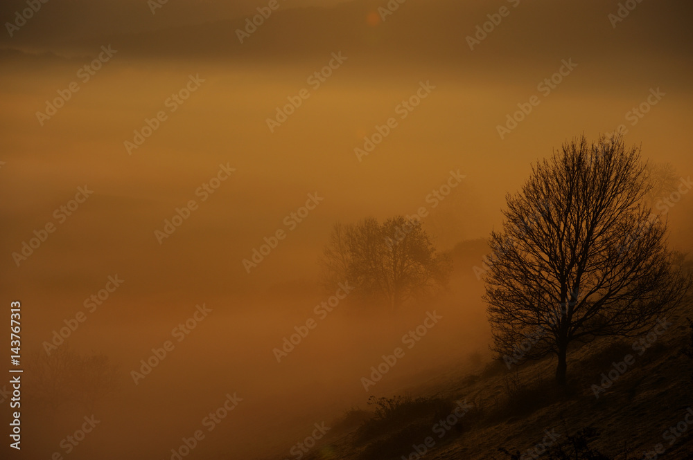
[[[441,369],[406,396],[374,397],[368,410],[349,410],[304,458],[693,458],[687,317],[693,318],[690,297],[660,334],[572,349],[565,388],[553,383],[551,358],[509,370],[476,357]],[[611,385],[602,382],[610,375]]]

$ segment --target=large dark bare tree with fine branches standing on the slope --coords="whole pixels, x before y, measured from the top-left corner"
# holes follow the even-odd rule
[[[641,333],[681,301],[691,279],[672,266],[666,223],[643,205],[650,187],[640,149],[620,136],[583,136],[534,165],[491,234],[495,351],[524,341],[521,361],[556,354],[562,385],[570,343]]]

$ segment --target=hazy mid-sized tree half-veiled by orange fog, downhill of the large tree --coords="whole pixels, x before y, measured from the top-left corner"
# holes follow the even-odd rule
[[[383,224],[374,218],[335,224],[321,262],[326,288],[348,281],[357,295],[384,302],[391,311],[444,285],[451,268],[421,222],[401,216]]]

